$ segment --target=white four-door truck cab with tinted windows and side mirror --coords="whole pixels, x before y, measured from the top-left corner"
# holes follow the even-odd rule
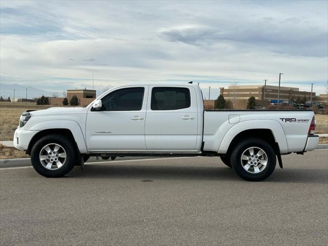
[[[87,148],[96,152],[199,152],[202,107],[201,94],[191,84],[117,88],[88,107]]]

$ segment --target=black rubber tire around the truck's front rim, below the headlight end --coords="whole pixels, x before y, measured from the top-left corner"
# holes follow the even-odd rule
[[[61,166],[59,169],[56,170],[46,169],[40,161],[39,158],[40,152],[46,145],[49,144],[58,144],[61,147],[63,147],[63,149],[66,151],[66,160],[63,166]],[[76,156],[77,153],[74,148],[72,140],[64,135],[59,135],[59,134],[50,134],[40,138],[35,142],[31,150],[31,161],[32,161],[33,168],[39,174],[49,178],[63,177],[64,175],[69,173],[78,162]]]

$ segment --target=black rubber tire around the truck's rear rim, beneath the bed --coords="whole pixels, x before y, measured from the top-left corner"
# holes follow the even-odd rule
[[[251,147],[260,148],[267,155],[267,165],[259,173],[250,173],[246,171],[242,166],[241,156],[245,150]],[[239,144],[234,148],[233,152],[231,153],[230,161],[231,161],[232,168],[241,178],[248,181],[261,181],[265,178],[268,178],[275,170],[276,153],[272,148],[272,146],[267,141],[261,138],[247,138],[240,141]],[[245,163],[245,161],[243,161],[243,163]],[[251,167],[250,171],[252,171],[252,169],[255,170],[254,167],[253,168]]]

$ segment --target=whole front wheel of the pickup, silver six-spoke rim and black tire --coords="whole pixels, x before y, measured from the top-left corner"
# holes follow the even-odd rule
[[[45,177],[62,177],[76,164],[76,150],[66,136],[51,134],[40,138],[31,150],[33,168]]]

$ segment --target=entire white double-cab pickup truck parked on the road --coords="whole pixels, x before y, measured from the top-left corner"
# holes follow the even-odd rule
[[[90,156],[219,156],[259,181],[276,159],[282,168],[281,155],[314,150],[315,126],[312,110],[204,111],[197,85],[140,84],[113,88],[84,108],[26,111],[13,141],[46,177]]]

